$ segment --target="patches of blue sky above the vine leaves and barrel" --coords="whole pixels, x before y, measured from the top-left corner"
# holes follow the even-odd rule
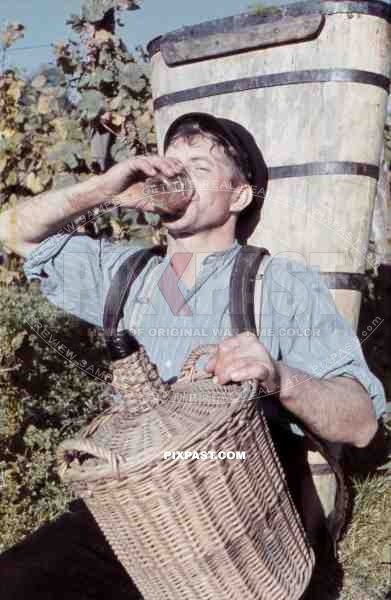
[[[289,4],[297,0],[262,0],[262,4]],[[119,32],[131,51],[138,44],[147,44],[153,37],[210,19],[245,12],[255,0],[144,0],[141,9],[122,12],[125,27]],[[7,53],[7,66],[17,65],[28,72],[52,59],[50,44],[69,37],[65,25],[71,13],[80,13],[81,0],[0,0],[0,25],[18,21],[26,27],[25,36]],[[31,46],[46,46],[31,48]]]

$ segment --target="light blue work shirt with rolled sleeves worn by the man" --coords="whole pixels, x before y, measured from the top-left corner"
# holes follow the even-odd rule
[[[141,242],[114,243],[77,231],[57,233],[33,250],[24,271],[29,280],[40,280],[50,302],[102,327],[110,282],[122,262],[141,247]],[[175,281],[169,258],[159,256],[134,282],[120,328],[136,335],[163,380],[177,376],[199,344],[218,343],[235,333],[228,310],[229,280],[239,250],[235,240],[226,250],[197,255],[201,268],[191,288]],[[167,286],[176,285],[180,293],[174,306],[167,300]],[[369,370],[358,337],[337,310],[317,269],[273,257],[265,269],[260,305],[259,339],[275,360],[318,378],[353,377],[367,390],[376,416],[384,413],[383,385]],[[201,359],[200,366],[206,360]]]

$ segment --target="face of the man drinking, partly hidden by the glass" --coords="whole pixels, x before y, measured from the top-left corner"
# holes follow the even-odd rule
[[[165,156],[183,163],[190,174],[195,194],[185,213],[175,221],[165,223],[173,235],[191,235],[221,227],[230,218],[232,196],[232,162],[222,146],[201,135],[188,144],[183,138],[170,143]]]

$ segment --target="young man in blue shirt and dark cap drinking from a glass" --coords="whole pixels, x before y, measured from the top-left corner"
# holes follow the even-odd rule
[[[205,367],[219,383],[257,378],[269,392],[270,414],[283,406],[325,440],[368,445],[384,412],[384,390],[316,271],[273,258],[264,275],[259,335],[226,333],[238,239],[255,226],[267,184],[253,138],[231,121],[190,113],[171,125],[164,150],[164,157],[134,157],[86,182],[40,194],[16,215],[5,212],[0,239],[27,259],[27,277],[41,281],[51,302],[101,327],[113,275],[138,248],[59,230],[131,184],[185,167],[196,193],[182,216],[164,222],[166,256],[152,259],[132,286],[124,327],[135,332],[164,380],[179,373],[192,348],[218,342]],[[124,205],[152,209],[146,197]],[[313,335],[301,335],[308,326]],[[300,332],[276,335],[289,328]],[[348,353],[330,360],[347,345]],[[91,515],[76,505],[0,556],[3,600],[139,597]]]

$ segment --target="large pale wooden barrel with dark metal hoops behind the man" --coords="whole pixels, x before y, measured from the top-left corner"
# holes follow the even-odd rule
[[[205,111],[255,137],[269,168],[249,239],[319,268],[355,330],[390,85],[391,7],[290,4],[183,27],[148,44],[159,151]]]

